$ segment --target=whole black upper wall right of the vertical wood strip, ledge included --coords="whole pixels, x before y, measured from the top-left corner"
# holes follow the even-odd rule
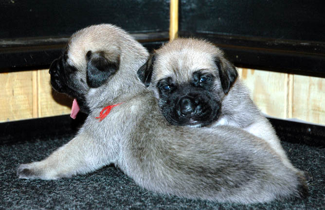
[[[210,40],[236,66],[325,76],[323,0],[180,2],[179,35]]]

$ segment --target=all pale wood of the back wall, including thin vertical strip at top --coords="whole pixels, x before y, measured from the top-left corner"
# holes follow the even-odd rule
[[[170,39],[178,33],[178,0],[170,1]],[[238,68],[263,113],[325,124],[325,78]],[[0,122],[69,114],[72,99],[54,92],[48,70],[0,73]]]

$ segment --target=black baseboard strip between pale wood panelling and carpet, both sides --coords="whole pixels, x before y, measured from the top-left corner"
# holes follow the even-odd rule
[[[2,134],[0,144],[13,144],[52,135],[73,135],[86,117],[80,113],[75,120],[72,120],[69,115],[61,115],[0,123]],[[325,147],[325,126],[274,118],[269,118],[269,120],[283,141]]]

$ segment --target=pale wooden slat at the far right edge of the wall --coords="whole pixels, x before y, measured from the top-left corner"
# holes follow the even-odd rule
[[[325,124],[325,78],[294,75],[292,117]]]

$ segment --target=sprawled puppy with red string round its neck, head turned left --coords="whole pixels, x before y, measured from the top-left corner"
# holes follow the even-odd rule
[[[307,196],[304,175],[265,140],[227,125],[170,125],[137,77],[147,57],[110,24],[73,34],[51,65],[51,84],[89,115],[71,141],[42,161],[20,165],[18,177],[58,179],[114,163],[138,185],[163,194],[246,204]]]

